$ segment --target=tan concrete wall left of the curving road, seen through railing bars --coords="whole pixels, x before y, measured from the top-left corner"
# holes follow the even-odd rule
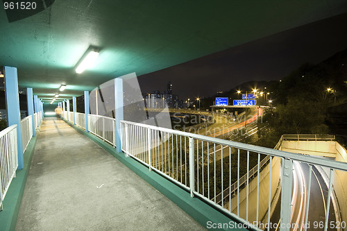
[[[259,219],[262,221],[266,216],[269,207],[269,164],[260,171],[260,189],[259,189]],[[280,158],[273,157],[272,171],[271,171],[271,210],[276,205],[280,189]],[[257,177],[250,179],[249,182],[249,196],[248,196],[248,221],[253,223],[257,216]],[[239,192],[239,216],[246,219],[246,187]],[[226,203],[226,209],[229,209],[229,203]],[[237,194],[231,199],[231,211],[237,214]]]

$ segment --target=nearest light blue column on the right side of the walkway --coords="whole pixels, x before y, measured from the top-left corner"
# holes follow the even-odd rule
[[[115,78],[116,150],[121,153],[121,120],[123,120],[123,79]]]

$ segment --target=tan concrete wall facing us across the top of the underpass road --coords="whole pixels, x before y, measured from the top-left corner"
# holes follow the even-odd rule
[[[281,148],[290,153],[336,157],[335,141],[284,140]]]

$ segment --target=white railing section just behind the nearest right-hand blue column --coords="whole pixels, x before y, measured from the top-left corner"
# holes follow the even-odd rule
[[[116,146],[115,119],[96,114],[88,114],[88,128],[92,134]]]

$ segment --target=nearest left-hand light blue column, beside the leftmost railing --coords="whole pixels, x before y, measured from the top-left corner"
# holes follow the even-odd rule
[[[5,76],[6,108],[8,126],[17,124],[18,169],[24,168],[21,111],[19,108],[18,78],[16,67],[3,67]]]

